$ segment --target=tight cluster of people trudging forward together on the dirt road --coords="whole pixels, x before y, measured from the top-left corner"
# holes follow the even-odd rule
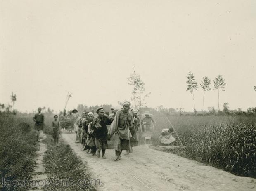
[[[92,112],[83,112],[75,124],[76,142],[83,144],[83,150],[106,158],[105,152],[108,148],[108,140],[113,138],[115,148],[115,161],[121,159],[121,153],[131,153],[133,146],[138,146],[138,129],[140,119],[139,111],[130,111],[130,102],[123,103],[120,110],[112,109],[112,115],[106,114],[104,108],[98,108],[96,115]],[[109,114],[109,115],[108,115]],[[110,125],[109,130],[107,126]]]

